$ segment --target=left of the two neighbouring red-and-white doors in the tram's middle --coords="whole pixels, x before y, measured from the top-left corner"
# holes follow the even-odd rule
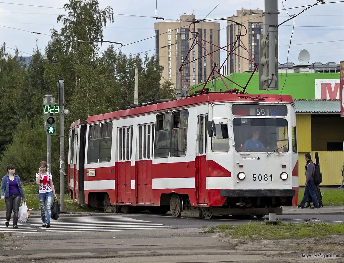
[[[117,201],[132,203],[131,197],[131,154],[132,126],[118,128],[118,165],[117,165]]]

